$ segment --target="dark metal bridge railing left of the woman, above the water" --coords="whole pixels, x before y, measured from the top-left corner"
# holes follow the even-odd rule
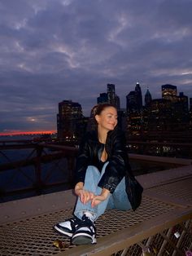
[[[75,157],[76,148],[30,142],[4,143],[0,146],[2,201],[16,194],[32,196],[59,186],[60,189],[71,188]]]

